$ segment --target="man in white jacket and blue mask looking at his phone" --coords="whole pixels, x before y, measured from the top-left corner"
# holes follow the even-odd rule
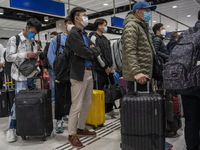
[[[20,90],[27,88],[27,77],[25,77],[19,70],[18,67],[28,58],[38,59],[37,44],[34,41],[34,37],[40,32],[42,24],[35,18],[28,20],[26,28],[23,32],[18,34],[19,46],[16,47],[16,36],[11,37],[7,43],[6,49],[6,60],[12,62],[11,77],[15,80],[15,93],[17,94]],[[7,141],[15,142],[16,136],[16,113],[15,103],[12,106],[9,126],[7,131]]]

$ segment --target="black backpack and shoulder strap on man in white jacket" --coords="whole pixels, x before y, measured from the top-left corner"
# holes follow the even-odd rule
[[[20,42],[20,36],[19,35],[15,35],[16,37],[16,51],[18,50],[18,46],[19,46],[19,42]],[[4,53],[4,59],[5,59],[5,67],[4,67],[4,73],[6,75],[11,75],[11,66],[12,66],[12,62],[7,62],[6,60],[6,52]]]

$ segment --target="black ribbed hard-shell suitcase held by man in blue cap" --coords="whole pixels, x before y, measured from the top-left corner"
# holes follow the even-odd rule
[[[164,101],[157,93],[135,92],[124,96],[121,106],[122,150],[164,150]]]

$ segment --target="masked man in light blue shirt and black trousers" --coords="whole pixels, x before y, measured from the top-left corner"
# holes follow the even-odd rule
[[[63,52],[66,45],[66,39],[68,36],[69,31],[73,27],[73,23],[69,17],[65,19],[65,27],[66,31],[65,33],[62,33],[61,35],[55,36],[49,46],[47,58],[49,61],[49,64],[52,69],[53,63],[56,57],[56,51],[59,50],[59,52]],[[60,40],[58,40],[58,38]],[[58,42],[60,47],[58,47]],[[63,133],[63,121],[67,122],[67,115],[69,115],[69,109],[71,106],[71,94],[70,94],[70,83],[64,83],[64,82],[55,82],[55,119],[56,122],[56,133]]]

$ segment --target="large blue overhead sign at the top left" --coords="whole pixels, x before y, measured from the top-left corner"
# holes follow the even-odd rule
[[[10,0],[10,7],[65,16],[65,4],[52,0]]]

